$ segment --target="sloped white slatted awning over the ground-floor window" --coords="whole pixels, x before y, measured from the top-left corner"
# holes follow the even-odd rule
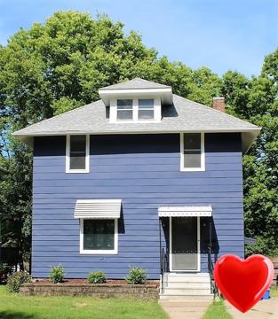
[[[77,199],[75,218],[120,218],[122,199]]]

